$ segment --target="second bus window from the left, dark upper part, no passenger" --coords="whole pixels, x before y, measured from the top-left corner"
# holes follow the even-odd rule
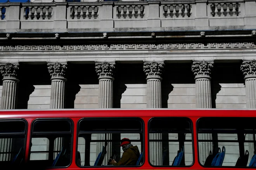
[[[73,122],[70,119],[36,119],[31,126],[31,165],[67,167],[71,163]]]

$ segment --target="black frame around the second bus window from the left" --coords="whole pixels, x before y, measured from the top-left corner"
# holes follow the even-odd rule
[[[36,121],[40,121],[40,120],[44,120],[44,121],[47,121],[47,120],[69,120],[71,122],[71,146],[70,146],[70,163],[69,165],[67,165],[66,167],[45,167],[45,169],[52,169],[52,168],[67,168],[69,167],[71,164],[72,164],[72,161],[73,161],[73,143],[74,143],[74,121],[71,119],[71,118],[35,118],[32,122],[31,122],[31,128],[30,128],[30,137],[29,137],[29,149],[28,149],[28,155],[29,155],[29,158],[30,158],[30,154],[31,154],[31,142],[32,142],[32,135],[33,135],[33,128],[34,128],[34,123]],[[47,132],[49,133],[49,132]],[[47,134],[47,133],[42,133],[42,134]],[[55,132],[53,132],[52,134],[54,134]],[[31,161],[31,160],[28,160],[28,162]]]

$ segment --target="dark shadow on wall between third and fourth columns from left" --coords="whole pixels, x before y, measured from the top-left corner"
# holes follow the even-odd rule
[[[143,64],[116,64],[113,108],[121,108],[121,98],[126,91],[126,84],[147,84]]]

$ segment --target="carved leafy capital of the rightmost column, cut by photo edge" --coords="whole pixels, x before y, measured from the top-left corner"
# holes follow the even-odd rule
[[[244,79],[256,77],[256,60],[244,60],[241,64],[240,70],[244,75]]]

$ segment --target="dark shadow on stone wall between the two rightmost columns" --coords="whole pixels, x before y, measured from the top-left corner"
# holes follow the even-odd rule
[[[211,74],[212,108],[216,108],[216,98],[221,90],[221,83],[244,84],[240,64],[241,63],[214,63],[214,70]]]

